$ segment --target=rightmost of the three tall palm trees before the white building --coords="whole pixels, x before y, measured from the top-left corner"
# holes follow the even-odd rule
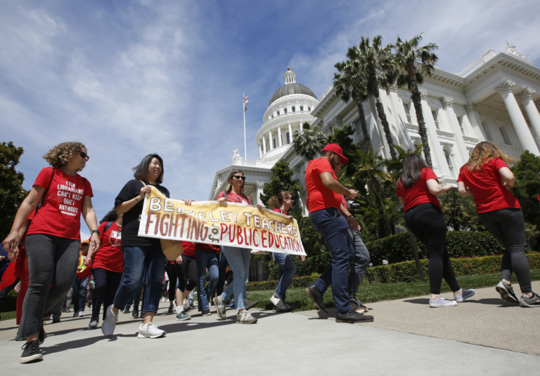
[[[435,43],[428,43],[426,46],[419,47],[423,35],[424,33],[418,34],[410,41],[401,41],[401,38],[397,36],[396,45],[394,46],[394,63],[399,69],[397,86],[403,87],[406,85],[411,91],[411,100],[413,100],[416,120],[418,121],[418,133],[424,144],[424,158],[426,163],[432,166],[428,133],[425,129],[418,85],[424,81],[423,74],[431,75],[432,70],[435,69],[433,65],[438,58],[432,51],[439,47]]]

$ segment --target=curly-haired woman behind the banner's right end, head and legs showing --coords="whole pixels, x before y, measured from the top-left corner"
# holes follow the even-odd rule
[[[289,215],[289,209],[293,207],[293,194],[288,191],[279,192],[278,196],[274,196],[268,201],[269,207],[281,214]],[[293,257],[287,253],[270,253],[272,260],[278,265],[279,282],[276,287],[276,292],[270,298],[270,301],[276,306],[276,311],[290,311],[289,304],[285,303],[287,289],[296,274],[296,266],[293,262]],[[304,256],[302,256],[304,261]]]

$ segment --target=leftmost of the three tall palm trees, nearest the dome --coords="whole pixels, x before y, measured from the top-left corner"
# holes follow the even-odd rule
[[[368,100],[368,94],[366,92],[366,81],[364,80],[365,75],[361,71],[362,67],[358,62],[354,64],[351,60],[338,62],[334,67],[339,72],[334,73],[335,94],[345,103],[348,103],[351,98],[356,102],[362,133],[369,148],[371,147],[371,137],[368,133],[368,123],[364,112],[364,102]]]

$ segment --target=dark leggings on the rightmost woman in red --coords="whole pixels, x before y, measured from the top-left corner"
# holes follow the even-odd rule
[[[491,232],[491,235],[503,243],[504,248],[506,248],[501,262],[503,279],[510,281],[512,271],[515,271],[521,292],[523,294],[532,293],[531,269],[529,269],[529,261],[525,256],[525,220],[523,220],[521,209],[494,210],[478,213],[478,217],[487,231]]]

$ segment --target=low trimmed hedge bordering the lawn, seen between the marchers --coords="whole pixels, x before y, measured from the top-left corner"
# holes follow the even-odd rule
[[[502,256],[485,256],[470,258],[451,259],[456,276],[471,276],[473,274],[489,274],[501,271]],[[529,267],[540,269],[540,253],[527,253]],[[428,260],[420,260],[425,281],[429,281]],[[290,287],[307,287],[315,283],[320,274],[293,278]],[[415,261],[397,262],[391,265],[380,267],[370,267],[366,270],[362,283],[393,283],[393,282],[419,282],[418,271]],[[278,281],[250,282],[246,283],[245,289],[253,290],[275,290]]]

